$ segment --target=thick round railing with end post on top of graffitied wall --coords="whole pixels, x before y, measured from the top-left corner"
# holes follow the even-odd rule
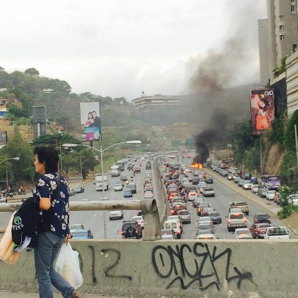
[[[1,203],[0,212],[13,212],[22,203]],[[130,201],[75,201],[70,202],[71,211],[92,210],[142,210],[144,219],[143,240],[161,239],[159,214],[155,199]]]

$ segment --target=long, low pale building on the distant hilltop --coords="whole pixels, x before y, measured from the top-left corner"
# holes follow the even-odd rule
[[[158,108],[163,106],[177,106],[180,105],[182,100],[185,100],[185,95],[161,95],[155,94],[153,96],[147,96],[142,93],[142,96],[133,99],[133,104],[139,108]]]

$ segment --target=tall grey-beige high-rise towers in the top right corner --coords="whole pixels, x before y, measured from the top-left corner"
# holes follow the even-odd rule
[[[296,51],[298,45],[297,0],[267,0],[267,46],[264,40],[266,20],[258,20],[261,81],[273,79],[282,60]],[[264,65],[268,64],[267,70]]]

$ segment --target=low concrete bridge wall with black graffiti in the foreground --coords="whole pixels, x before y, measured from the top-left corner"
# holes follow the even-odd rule
[[[257,243],[256,243],[257,242]],[[75,240],[85,293],[144,297],[297,297],[298,240]],[[0,262],[0,289],[36,292],[33,251]]]

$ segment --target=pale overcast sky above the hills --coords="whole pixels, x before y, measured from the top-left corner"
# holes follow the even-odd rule
[[[34,67],[75,93],[179,95],[210,52],[234,55],[232,39],[245,51],[227,87],[258,82],[257,19],[266,15],[266,0],[3,1],[0,66]]]

